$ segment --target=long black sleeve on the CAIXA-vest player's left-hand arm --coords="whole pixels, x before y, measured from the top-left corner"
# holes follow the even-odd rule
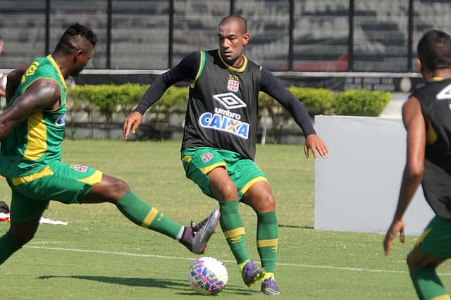
[[[156,80],[152,82],[152,85],[147,89],[140,104],[135,108],[135,111],[144,114],[152,104],[163,96],[166,89],[171,87],[171,85],[182,80],[194,80],[197,75],[197,70],[199,69],[199,62],[200,52],[192,52],[183,58],[178,65],[171,68],[171,70],[156,77]]]

